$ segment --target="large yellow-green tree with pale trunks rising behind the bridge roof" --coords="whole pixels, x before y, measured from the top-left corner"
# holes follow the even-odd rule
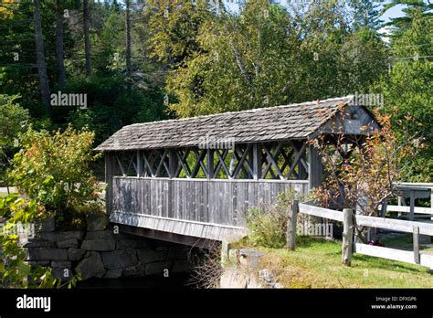
[[[385,45],[372,29],[352,32],[344,5],[290,12],[247,2],[238,16],[209,16],[201,50],[167,79],[181,117],[312,101],[364,91],[385,71]]]

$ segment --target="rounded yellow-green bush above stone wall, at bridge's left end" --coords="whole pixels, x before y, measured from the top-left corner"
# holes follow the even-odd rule
[[[89,164],[94,133],[65,132],[50,134],[29,129],[21,135],[23,149],[13,159],[10,178],[30,199],[60,215],[74,207],[97,199],[97,181]]]

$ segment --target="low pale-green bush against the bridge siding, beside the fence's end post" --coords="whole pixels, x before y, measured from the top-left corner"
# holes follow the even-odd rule
[[[269,207],[254,207],[248,211],[248,240],[255,246],[281,249],[286,245],[289,209],[296,195],[292,189],[282,192]]]

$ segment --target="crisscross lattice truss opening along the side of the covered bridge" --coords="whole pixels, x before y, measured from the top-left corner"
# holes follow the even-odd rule
[[[234,149],[197,147],[113,154],[114,175],[217,179],[308,179],[307,144],[244,143]]]

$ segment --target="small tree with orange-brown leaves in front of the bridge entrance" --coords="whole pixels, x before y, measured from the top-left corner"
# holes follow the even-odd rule
[[[402,142],[390,117],[377,110],[375,115],[380,128],[371,132],[372,127],[362,127],[370,131],[364,138],[351,140],[338,134],[333,141],[324,135],[311,141],[322,155],[327,175],[314,193],[323,207],[356,208],[362,215],[377,216],[379,205],[396,196],[395,185],[402,181],[402,170],[424,147],[419,130],[405,129],[407,125],[417,127],[413,120],[399,130],[404,134]],[[364,240],[363,233],[364,228],[357,228],[358,237]]]

